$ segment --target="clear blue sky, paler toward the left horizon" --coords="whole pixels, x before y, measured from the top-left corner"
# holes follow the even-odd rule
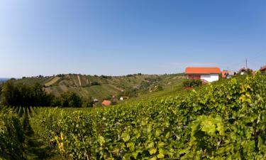
[[[266,65],[265,0],[0,0],[0,77]]]

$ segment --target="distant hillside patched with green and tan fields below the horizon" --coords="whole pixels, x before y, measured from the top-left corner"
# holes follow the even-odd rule
[[[26,85],[34,85],[36,82],[42,84],[47,92],[60,95],[62,92],[72,91],[84,98],[96,98],[104,100],[111,95],[123,95],[123,92],[134,92],[142,95],[155,92],[157,88],[170,88],[180,85],[184,76],[182,74],[172,75],[55,75],[50,77],[38,76],[34,78],[22,78],[15,82]]]

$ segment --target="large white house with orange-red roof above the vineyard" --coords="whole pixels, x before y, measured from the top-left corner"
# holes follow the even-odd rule
[[[198,68],[189,67],[186,68],[185,74],[189,80],[203,80],[205,82],[214,82],[219,80],[219,74],[221,74],[220,68]]]

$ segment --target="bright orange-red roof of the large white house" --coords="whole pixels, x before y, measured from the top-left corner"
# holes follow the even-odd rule
[[[186,74],[211,74],[211,73],[221,73],[220,68],[186,68]]]

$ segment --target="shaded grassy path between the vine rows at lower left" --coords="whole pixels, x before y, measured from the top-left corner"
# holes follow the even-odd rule
[[[66,160],[57,154],[55,149],[50,148],[43,139],[36,137],[28,118],[24,125],[26,132],[25,152],[28,160]]]

